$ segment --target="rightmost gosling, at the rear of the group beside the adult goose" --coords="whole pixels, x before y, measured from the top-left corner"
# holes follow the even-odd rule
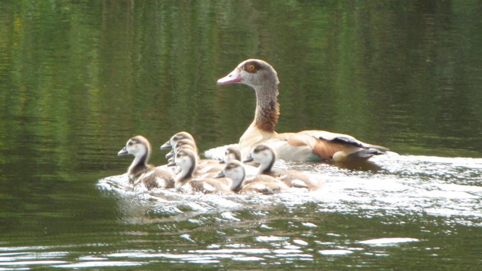
[[[283,181],[289,187],[306,188],[308,190],[317,190],[321,187],[319,181],[312,180],[310,177],[299,171],[274,171],[272,168],[276,161],[276,154],[274,150],[267,144],[260,144],[256,146],[243,162],[251,161],[260,164],[258,167],[258,174],[265,174],[275,177],[276,179]]]

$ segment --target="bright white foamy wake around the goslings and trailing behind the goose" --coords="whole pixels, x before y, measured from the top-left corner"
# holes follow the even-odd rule
[[[231,146],[231,145],[229,145]],[[219,159],[227,146],[208,150],[204,155]],[[239,221],[230,210],[265,208],[272,204],[294,206],[318,203],[326,212],[385,210],[389,213],[429,213],[434,216],[464,217],[460,223],[482,218],[482,159],[402,156],[388,152],[372,158],[370,170],[353,170],[325,163],[278,160],[277,169],[296,169],[323,187],[307,192],[291,189],[266,195],[181,194],[173,189],[147,191],[132,187],[126,174],[104,178],[98,186],[127,199],[135,197],[140,208],[177,215],[187,212],[220,213],[223,220]],[[467,184],[469,183],[469,184]],[[182,209],[182,211],[181,211]],[[309,223],[307,227],[316,226]]]

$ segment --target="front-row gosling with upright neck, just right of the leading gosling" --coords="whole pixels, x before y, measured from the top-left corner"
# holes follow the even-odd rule
[[[181,168],[181,172],[176,176],[174,187],[182,192],[202,192],[211,193],[231,193],[238,189],[241,182],[236,182],[228,178],[202,178],[196,177],[197,154],[190,148],[180,149],[174,157],[174,165]]]

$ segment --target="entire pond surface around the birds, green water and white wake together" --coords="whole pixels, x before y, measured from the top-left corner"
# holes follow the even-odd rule
[[[0,270],[478,270],[479,1],[3,1]],[[216,80],[261,58],[278,132],[387,146],[369,169],[276,196],[124,186],[126,140],[236,143],[255,96]],[[165,164],[155,150],[154,164]]]

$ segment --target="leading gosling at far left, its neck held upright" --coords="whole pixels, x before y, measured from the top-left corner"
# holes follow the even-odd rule
[[[174,187],[175,175],[172,172],[156,168],[147,162],[151,154],[149,141],[144,136],[130,138],[119,151],[118,156],[133,155],[134,161],[127,170],[129,180],[137,185],[142,183],[147,189]]]

